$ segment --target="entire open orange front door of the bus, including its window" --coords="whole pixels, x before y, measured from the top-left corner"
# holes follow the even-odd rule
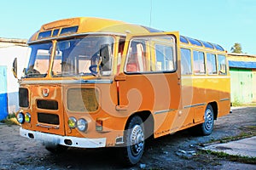
[[[119,88],[116,110],[125,116],[150,111],[155,137],[177,128],[173,121],[180,101],[177,37],[177,32],[130,35],[125,41],[121,71],[115,77]]]

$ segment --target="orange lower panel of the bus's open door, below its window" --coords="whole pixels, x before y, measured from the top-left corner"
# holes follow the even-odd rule
[[[130,114],[138,111],[153,113],[155,137],[177,127],[180,97],[180,82],[176,72],[125,75],[125,80],[119,82],[119,105]],[[178,127],[182,124],[178,123]]]

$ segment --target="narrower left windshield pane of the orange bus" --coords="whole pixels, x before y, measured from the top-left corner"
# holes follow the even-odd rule
[[[46,77],[49,70],[49,59],[52,51],[52,42],[33,44],[29,46],[31,54],[25,70],[25,77]]]

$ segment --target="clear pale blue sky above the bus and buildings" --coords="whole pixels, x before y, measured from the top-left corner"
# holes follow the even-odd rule
[[[244,53],[256,54],[255,0],[8,0],[0,14],[0,37],[28,39],[45,23],[93,16],[180,31],[228,51],[239,42]]]

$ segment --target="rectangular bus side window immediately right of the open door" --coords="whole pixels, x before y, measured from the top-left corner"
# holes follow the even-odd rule
[[[181,71],[182,75],[191,75],[191,53],[189,49],[181,48]]]

